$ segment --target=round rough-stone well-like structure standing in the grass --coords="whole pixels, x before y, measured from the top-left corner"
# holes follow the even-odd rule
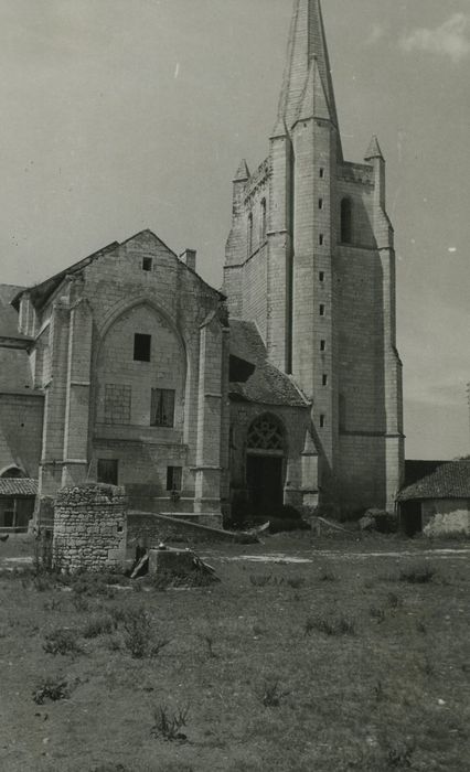
[[[126,560],[124,487],[90,483],[63,487],[54,512],[53,564],[62,571],[99,571]]]

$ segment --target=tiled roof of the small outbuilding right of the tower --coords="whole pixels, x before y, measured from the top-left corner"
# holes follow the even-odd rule
[[[470,459],[450,461],[398,493],[397,501],[470,498]]]

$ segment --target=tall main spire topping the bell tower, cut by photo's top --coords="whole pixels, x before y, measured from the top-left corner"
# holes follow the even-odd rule
[[[289,128],[297,118],[313,57],[317,58],[328,105],[328,117],[338,127],[320,0],[296,0],[278,111],[279,118],[282,117]]]

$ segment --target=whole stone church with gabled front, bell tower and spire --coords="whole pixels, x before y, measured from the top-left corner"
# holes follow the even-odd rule
[[[233,182],[222,291],[145,230],[0,301],[0,476],[39,480],[39,516],[88,480],[205,523],[282,503],[393,510],[385,163],[375,138],[364,163],[343,159],[318,0],[295,3],[269,154]]]

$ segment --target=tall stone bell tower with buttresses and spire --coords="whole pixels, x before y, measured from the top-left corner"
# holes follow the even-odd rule
[[[311,409],[321,500],[393,510],[404,465],[394,233],[374,137],[345,161],[320,0],[295,0],[268,158],[234,180],[225,290]]]

